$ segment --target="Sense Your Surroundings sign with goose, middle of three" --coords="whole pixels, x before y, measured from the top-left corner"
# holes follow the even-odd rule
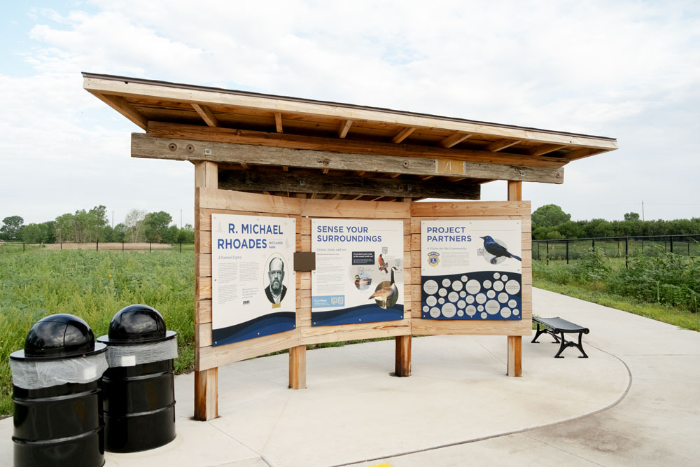
[[[403,319],[403,221],[311,219],[311,325]]]

